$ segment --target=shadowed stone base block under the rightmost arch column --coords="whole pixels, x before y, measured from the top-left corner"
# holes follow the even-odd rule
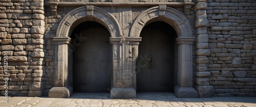
[[[178,98],[198,98],[198,92],[191,87],[175,87],[175,96]]]

